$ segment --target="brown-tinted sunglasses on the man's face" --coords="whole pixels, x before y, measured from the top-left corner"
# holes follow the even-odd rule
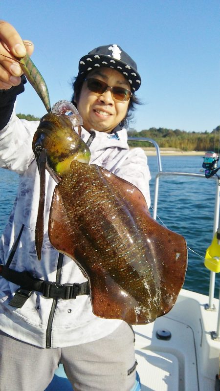
[[[85,79],[85,81],[87,81],[87,88],[97,94],[103,94],[110,88],[113,98],[117,101],[128,101],[132,95],[132,92],[129,89],[123,87],[110,87],[108,84],[98,79],[89,78]]]

